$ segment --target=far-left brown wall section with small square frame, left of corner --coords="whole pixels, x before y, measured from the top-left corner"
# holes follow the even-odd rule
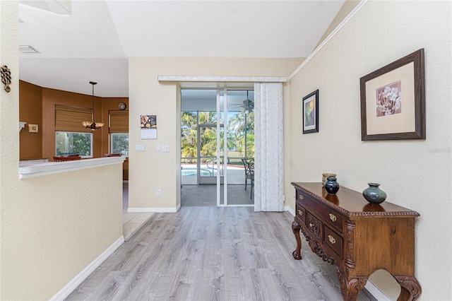
[[[20,131],[20,160],[40,159],[42,156],[42,88],[19,82],[19,121],[26,122]],[[37,124],[38,132],[30,133],[28,124]]]

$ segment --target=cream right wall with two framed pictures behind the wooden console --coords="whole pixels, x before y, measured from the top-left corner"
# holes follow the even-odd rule
[[[415,223],[415,270],[420,300],[452,300],[451,2],[369,1],[290,81],[285,103],[290,182],[320,182],[322,172],[362,191],[381,183],[387,201],[420,213]],[[427,139],[361,141],[359,78],[425,49]],[[302,98],[319,89],[319,133],[302,134]],[[290,196],[290,197],[288,197]],[[309,250],[305,251],[309,252]],[[377,273],[389,297],[398,291]],[[398,287],[398,285],[397,285]]]

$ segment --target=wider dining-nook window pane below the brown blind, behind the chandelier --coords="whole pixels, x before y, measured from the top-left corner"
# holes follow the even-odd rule
[[[55,136],[56,155],[80,155],[93,157],[93,134],[73,131],[57,131]]]

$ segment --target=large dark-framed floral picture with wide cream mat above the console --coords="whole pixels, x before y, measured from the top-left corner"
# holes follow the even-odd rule
[[[425,139],[424,49],[359,80],[361,140]]]

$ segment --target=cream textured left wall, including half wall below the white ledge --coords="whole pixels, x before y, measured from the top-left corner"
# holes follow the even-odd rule
[[[122,165],[19,179],[18,6],[0,1],[0,299],[48,300],[122,237]]]

